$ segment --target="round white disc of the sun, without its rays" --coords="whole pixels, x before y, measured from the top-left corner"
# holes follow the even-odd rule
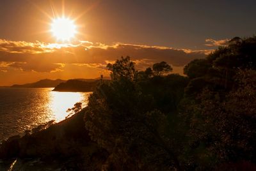
[[[70,41],[76,34],[76,24],[73,20],[65,17],[52,20],[51,32],[57,40]]]

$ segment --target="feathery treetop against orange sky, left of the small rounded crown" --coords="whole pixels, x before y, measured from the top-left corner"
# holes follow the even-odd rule
[[[118,80],[119,78],[125,77],[133,80],[136,73],[134,68],[134,62],[130,60],[130,57],[121,57],[120,60],[116,60],[115,64],[108,64],[107,68],[111,71],[111,78],[113,80]]]

